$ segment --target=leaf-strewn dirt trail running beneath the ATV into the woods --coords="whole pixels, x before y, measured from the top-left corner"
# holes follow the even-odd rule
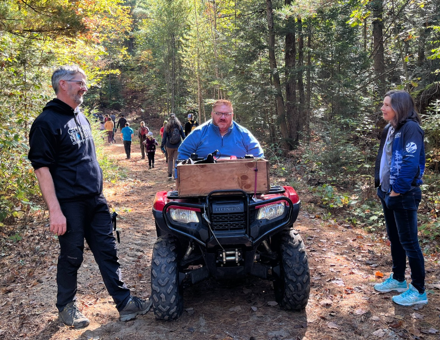
[[[148,161],[140,160],[139,144],[132,149],[131,160],[125,160],[120,141],[106,147],[127,169],[129,179],[105,183],[104,194],[120,213],[118,247],[124,280],[133,294],[147,298],[156,240],[151,207],[155,193],[174,188],[174,183],[166,179],[160,152],[156,168],[148,170]],[[48,233],[46,215],[43,221],[31,223],[22,241],[1,254],[0,339],[440,339],[440,273],[435,259],[426,258],[427,286],[433,288],[429,304],[421,309],[397,306],[391,301],[392,294],[377,294],[372,289],[382,280],[376,272],[387,277],[391,269],[385,242],[351,226],[310,216],[305,212],[306,204],[303,201],[295,223],[308,250],[312,277],[304,312],[288,312],[274,305],[268,281],[249,278],[219,284],[206,280],[185,290],[184,312],[176,321],[156,321],[148,313],[120,322],[87,249],[78,277],[78,298],[91,324],[71,330],[57,321],[58,241]]]

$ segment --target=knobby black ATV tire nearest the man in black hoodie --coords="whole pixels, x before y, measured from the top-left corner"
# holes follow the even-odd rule
[[[171,235],[161,236],[154,244],[151,261],[151,298],[157,320],[176,320],[183,311],[178,245],[178,240]]]

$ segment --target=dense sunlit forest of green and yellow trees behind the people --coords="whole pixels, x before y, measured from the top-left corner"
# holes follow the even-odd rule
[[[436,0],[1,1],[1,242],[20,240],[41,209],[28,131],[54,96],[52,70],[76,63],[89,111],[203,122],[213,100],[231,100],[273,177],[311,214],[372,231],[383,230],[373,188],[381,101],[409,91],[427,150],[420,235],[437,251],[439,19]]]

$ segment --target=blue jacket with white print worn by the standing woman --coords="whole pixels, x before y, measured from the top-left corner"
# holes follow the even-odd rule
[[[375,187],[380,185],[380,160],[383,146],[391,124],[387,124],[382,132],[378,156],[374,171]],[[425,171],[424,132],[415,120],[407,120],[394,132],[390,167],[390,192],[404,194],[414,186],[422,183]]]

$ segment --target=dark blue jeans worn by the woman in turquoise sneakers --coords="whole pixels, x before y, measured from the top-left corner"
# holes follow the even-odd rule
[[[425,261],[417,236],[417,209],[421,201],[421,190],[416,187],[405,194],[390,197],[378,188],[382,203],[386,232],[391,242],[393,278],[405,280],[406,258],[411,269],[412,285],[419,293],[425,291]]]

